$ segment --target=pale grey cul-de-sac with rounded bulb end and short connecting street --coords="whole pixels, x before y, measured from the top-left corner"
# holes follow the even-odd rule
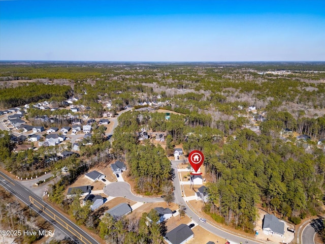
[[[123,197],[137,202],[164,202],[164,198],[139,197],[131,192],[131,187],[127,182],[113,182],[104,187],[104,193],[112,197]]]

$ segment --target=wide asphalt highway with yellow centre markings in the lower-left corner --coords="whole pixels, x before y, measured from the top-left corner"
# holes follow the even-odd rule
[[[99,243],[76,224],[62,216],[57,210],[45,203],[39,196],[22,186],[20,182],[12,180],[1,171],[0,186],[4,187],[11,194],[15,195],[30,209],[38,212],[40,216],[49,221],[52,225],[54,225],[55,228],[65,233],[67,236],[70,236],[71,239],[75,240],[77,237],[80,242],[84,244]]]

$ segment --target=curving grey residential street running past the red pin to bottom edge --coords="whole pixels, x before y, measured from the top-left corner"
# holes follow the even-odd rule
[[[182,161],[178,160],[178,161],[171,161],[172,162],[172,168],[174,169],[175,167],[177,167],[178,164],[180,164]],[[204,229],[206,229],[207,231],[210,231],[211,233],[220,236],[222,238],[225,238],[227,240],[230,241],[231,244],[234,243],[247,243],[246,241],[248,241],[249,244],[257,244],[257,243],[261,243],[258,240],[251,240],[251,239],[247,239],[245,237],[240,237],[237,235],[233,235],[231,233],[228,233],[226,231],[223,231],[221,229],[216,228],[215,226],[209,224],[208,222],[206,223],[202,223],[199,220],[199,216],[197,214],[195,214],[187,205],[187,203],[184,201],[183,197],[182,197],[182,191],[181,191],[181,186],[180,186],[180,181],[179,181],[179,175],[177,173],[177,171],[175,171],[175,178],[174,178],[174,187],[175,187],[175,203],[178,204],[183,204],[184,206],[186,206],[186,215],[188,217],[190,217],[192,219],[192,221],[200,223],[200,226]]]

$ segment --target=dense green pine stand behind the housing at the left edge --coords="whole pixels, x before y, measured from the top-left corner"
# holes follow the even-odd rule
[[[11,108],[22,106],[42,99],[62,101],[72,95],[72,89],[68,85],[45,85],[28,83],[15,88],[0,90],[0,107]]]

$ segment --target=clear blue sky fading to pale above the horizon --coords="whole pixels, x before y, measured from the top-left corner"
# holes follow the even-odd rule
[[[0,0],[0,60],[325,60],[325,0]]]

